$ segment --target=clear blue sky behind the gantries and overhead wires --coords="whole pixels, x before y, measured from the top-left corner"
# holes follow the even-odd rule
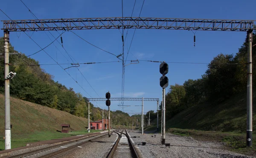
[[[23,0],[26,6],[39,19],[53,18],[81,18],[81,17],[122,17],[121,0]],[[143,0],[137,0],[133,17],[138,17]],[[256,14],[253,6],[256,1],[253,0],[145,0],[140,17],[169,17],[169,18],[198,18],[198,19],[243,19],[255,20]],[[130,17],[134,6],[134,0],[123,0],[124,17]],[[20,0],[1,1],[2,9],[12,20],[34,19],[32,14],[23,5]],[[9,20],[0,12],[0,20]],[[3,27],[3,23],[0,23]],[[2,28],[1,27],[1,28]],[[120,30],[121,31],[121,30]],[[79,30],[74,31],[85,40],[105,49],[113,54],[122,53],[121,33],[118,29],[105,30]],[[125,30],[126,32],[126,30]],[[129,30],[125,43],[125,56],[128,46],[131,43],[131,37],[134,29]],[[28,32],[32,35],[41,47],[51,43],[47,34],[49,32]],[[61,33],[61,32],[60,32]],[[55,37],[58,32],[53,31]],[[194,62],[209,63],[213,57],[220,54],[235,54],[238,48],[244,42],[245,32],[196,32],[196,46],[193,43],[193,33],[184,30],[153,30],[137,29],[133,43],[131,45],[128,60],[158,60],[170,62]],[[0,36],[3,36],[1,32]],[[116,57],[107,54],[88,43],[81,40],[71,32],[65,32],[63,35],[63,46],[67,52],[79,63],[86,62],[105,62],[118,61]],[[53,38],[51,38],[53,40]],[[59,40],[60,41],[60,40]],[[19,52],[26,55],[33,54],[40,48],[33,43],[23,32],[11,32],[10,42]],[[45,49],[58,63],[72,63],[64,49],[59,43],[55,42]],[[61,53],[63,55],[61,55]],[[57,56],[57,57],[56,57]],[[68,59],[66,59],[65,57]],[[40,63],[55,63],[46,53],[40,52],[31,56]],[[162,88],[159,85],[160,63],[140,62],[131,64],[125,68],[125,97],[144,97],[144,98],[162,98]],[[73,87],[76,92],[81,92],[87,98],[90,96],[61,69],[60,66],[41,66],[48,73],[54,75],[54,80],[67,87]],[[64,68],[68,66],[64,65]],[[79,67],[85,78],[100,95],[105,97],[105,93],[110,91],[111,97],[121,97],[122,84],[122,63],[99,63],[93,65],[81,65]],[[178,83],[183,84],[188,79],[198,79],[207,69],[206,64],[177,64],[169,63],[169,85]],[[93,91],[84,80],[76,68],[70,68],[67,72],[75,78],[80,85],[93,97],[99,96]],[[167,91],[168,92],[168,91]],[[106,108],[104,102],[98,102],[101,108]],[[111,102],[111,109],[121,109],[117,106],[119,101]],[[141,102],[128,102],[125,105],[141,105]],[[144,111],[156,110],[156,102],[144,102]],[[131,106],[125,108],[125,111],[141,112],[140,106]]]

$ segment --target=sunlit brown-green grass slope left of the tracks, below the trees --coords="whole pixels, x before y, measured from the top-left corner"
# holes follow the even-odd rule
[[[11,137],[12,148],[25,146],[27,142],[79,135],[87,131],[86,118],[71,115],[68,112],[22,101],[11,97]],[[5,106],[4,95],[0,94],[0,150],[4,149]],[[78,134],[64,134],[60,124],[70,124]]]

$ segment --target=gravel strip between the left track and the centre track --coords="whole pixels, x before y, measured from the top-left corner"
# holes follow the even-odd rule
[[[65,155],[63,158],[103,158],[111,150],[117,138],[118,135],[113,132],[110,138],[106,135],[88,142],[76,150],[76,152]]]

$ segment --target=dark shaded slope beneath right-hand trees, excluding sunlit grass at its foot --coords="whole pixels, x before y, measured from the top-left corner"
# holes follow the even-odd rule
[[[256,95],[253,95],[255,101]],[[253,102],[253,106],[256,103]],[[180,112],[166,122],[167,127],[220,132],[245,132],[247,119],[246,94],[231,97],[222,103],[201,103]],[[256,127],[256,108],[253,108]],[[256,131],[254,130],[253,133]]]

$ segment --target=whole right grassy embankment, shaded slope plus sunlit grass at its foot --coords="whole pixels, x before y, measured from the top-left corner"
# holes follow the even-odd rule
[[[166,121],[166,132],[202,141],[225,142],[231,151],[256,156],[256,108],[253,108],[253,147],[246,147],[246,109],[246,94],[221,103],[201,103]],[[146,131],[155,129],[155,125],[145,128]]]

